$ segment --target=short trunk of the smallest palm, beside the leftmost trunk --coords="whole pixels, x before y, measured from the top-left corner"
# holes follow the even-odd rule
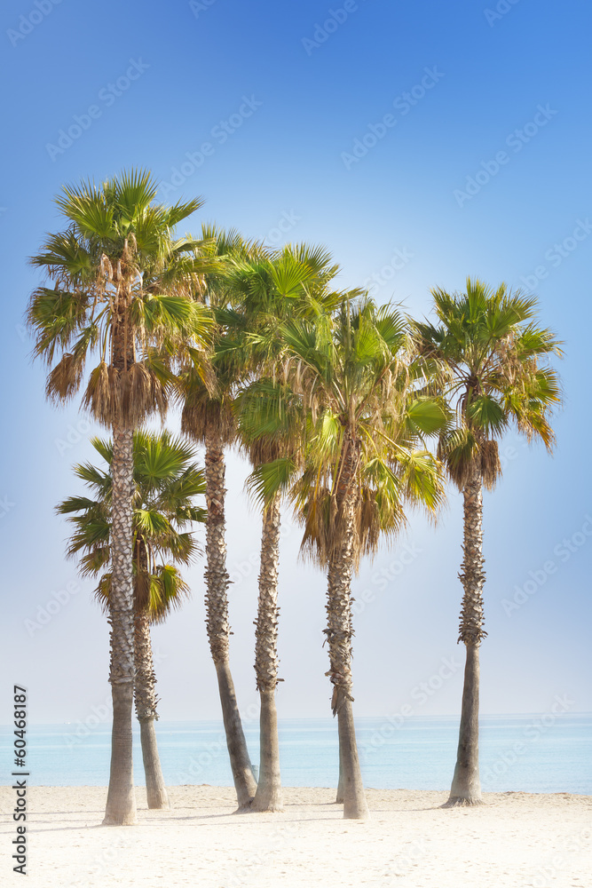
[[[169,796],[162,776],[154,722],[158,719],[156,676],[150,640],[150,618],[146,611],[136,613],[136,715],[140,725],[142,759],[146,775],[146,799],[149,808],[169,808]]]

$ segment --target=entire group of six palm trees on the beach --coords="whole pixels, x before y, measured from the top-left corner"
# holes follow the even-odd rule
[[[240,811],[281,811],[275,695],[279,675],[280,513],[294,510],[302,551],[327,574],[328,678],[339,735],[337,801],[364,818],[367,802],[353,720],[351,582],[360,559],[397,535],[407,513],[432,517],[446,475],[464,496],[459,641],[467,649],[458,757],[448,805],[481,801],[478,648],[483,629],[482,488],[499,476],[510,423],[550,450],[560,400],[549,357],[559,344],[536,302],[504,285],[467,281],[432,291],[437,323],[406,319],[361,290],[335,288],[338,266],[305,244],[268,250],[237,232],[174,230],[201,200],[164,207],[145,171],[66,186],[66,226],[31,261],[46,274],[32,294],[34,353],[47,362],[48,397],[83,388],[83,407],[109,432],[92,441],[107,464],[75,467],[93,498],[58,506],[74,524],[67,552],[110,623],[114,722],[104,823],[136,821],[131,710],[140,722],[148,805],[167,807],[156,746],[150,625],[178,607],[181,573],[205,522],[206,624]],[[181,431],[205,449],[147,432],[170,400]],[[430,449],[431,442],[434,446]],[[262,513],[255,671],[261,699],[255,780],[230,670],[225,539],[225,451],[252,465]],[[195,497],[205,495],[205,509]]]

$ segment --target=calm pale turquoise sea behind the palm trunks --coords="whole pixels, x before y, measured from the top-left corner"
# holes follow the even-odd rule
[[[107,722],[28,728],[29,783],[37,786],[105,786],[110,733]],[[454,770],[457,718],[409,718],[400,726],[383,718],[359,718],[360,764],[367,787],[448,789]],[[231,786],[222,724],[159,722],[162,771],[170,786]],[[257,725],[245,729],[252,761],[258,762]],[[2,782],[12,771],[12,731],[0,728]],[[592,795],[592,715],[484,716],[480,734],[485,791],[574,792]],[[143,781],[139,736],[136,781]],[[280,723],[285,786],[332,787],[337,781],[337,730],[333,719]]]

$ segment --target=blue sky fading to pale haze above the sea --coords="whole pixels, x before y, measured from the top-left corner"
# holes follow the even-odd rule
[[[272,243],[323,242],[343,286],[372,281],[379,301],[410,312],[428,313],[430,287],[462,288],[468,274],[537,293],[542,320],[564,340],[565,402],[556,455],[510,432],[504,478],[485,496],[483,710],[543,712],[555,694],[568,694],[573,711],[592,710],[588,7],[31,0],[2,19],[4,712],[13,681],[29,686],[37,722],[84,718],[109,691],[107,626],[91,584],[64,559],[66,527],[52,511],[76,489],[70,464],[90,456],[86,438],[99,429],[76,403],[45,402],[22,313],[37,281],[26,258],[60,226],[60,186],[130,165],[153,170],[163,200],[201,194],[195,229],[216,219]],[[246,473],[231,456],[233,670],[243,708],[257,699],[259,528]],[[442,658],[460,662],[461,535],[451,492],[437,528],[410,516],[407,535],[362,568],[359,714],[399,710]],[[287,717],[323,715],[329,698],[324,581],[297,564],[297,546],[288,527],[278,695]],[[201,573],[193,567],[183,614],[154,632],[162,718],[217,718]],[[51,619],[32,629],[51,601]],[[459,711],[461,671],[422,714]]]

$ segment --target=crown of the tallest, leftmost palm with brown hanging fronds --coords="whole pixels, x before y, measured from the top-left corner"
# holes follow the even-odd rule
[[[107,426],[163,413],[171,361],[209,335],[209,313],[194,302],[208,261],[193,255],[196,242],[172,234],[202,201],[164,207],[157,189],[142,170],[65,186],[56,202],[67,227],[30,260],[52,284],[28,305],[34,354],[52,367],[48,397],[72,397],[96,353],[83,404]]]

